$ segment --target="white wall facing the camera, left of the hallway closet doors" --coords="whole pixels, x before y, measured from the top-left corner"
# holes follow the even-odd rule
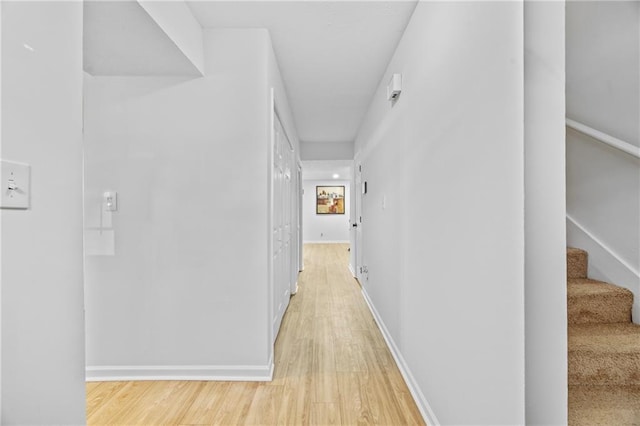
[[[203,78],[87,77],[90,378],[270,377],[267,40],[205,30]]]

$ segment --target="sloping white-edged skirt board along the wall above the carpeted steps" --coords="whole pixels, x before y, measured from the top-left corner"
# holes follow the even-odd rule
[[[600,241],[571,215],[567,215],[567,243],[589,253],[589,278],[630,290],[634,295],[633,320],[640,320],[640,272]]]

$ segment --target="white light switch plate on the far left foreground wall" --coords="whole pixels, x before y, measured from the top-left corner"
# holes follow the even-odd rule
[[[31,192],[31,166],[0,160],[0,208],[28,209]]]

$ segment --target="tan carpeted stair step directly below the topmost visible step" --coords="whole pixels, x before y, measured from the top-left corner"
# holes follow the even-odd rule
[[[613,284],[587,278],[567,282],[569,324],[631,322],[633,293]]]

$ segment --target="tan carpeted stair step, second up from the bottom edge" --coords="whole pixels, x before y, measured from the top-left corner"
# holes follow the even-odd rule
[[[640,386],[640,325],[569,326],[569,385]]]

